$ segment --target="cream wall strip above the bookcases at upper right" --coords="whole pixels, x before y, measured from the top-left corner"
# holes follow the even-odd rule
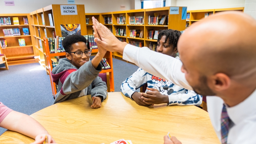
[[[177,0],[176,1],[176,6],[187,6],[188,11],[244,7],[244,4],[245,4],[245,0]]]

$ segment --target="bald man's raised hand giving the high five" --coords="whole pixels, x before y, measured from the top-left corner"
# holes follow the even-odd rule
[[[92,17],[92,24],[94,32],[96,30],[101,38],[101,40],[97,37],[94,38],[94,41],[98,46],[101,46],[110,52],[123,53],[124,47],[127,44],[126,42],[119,41],[107,27],[99,23],[94,17]]]

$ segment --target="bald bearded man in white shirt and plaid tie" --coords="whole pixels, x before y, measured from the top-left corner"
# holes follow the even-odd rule
[[[120,42],[95,19],[93,25],[101,38],[95,41],[106,50],[123,53],[124,60],[148,73],[208,95],[209,116],[222,144],[256,143],[256,20],[252,17],[220,12],[196,22],[180,37],[180,60]],[[149,103],[151,99],[143,95]],[[165,136],[164,144],[180,141]]]

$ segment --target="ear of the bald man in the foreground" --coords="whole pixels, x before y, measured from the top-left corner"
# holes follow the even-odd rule
[[[224,91],[230,87],[230,78],[226,74],[217,73],[210,77],[208,85],[214,91]]]

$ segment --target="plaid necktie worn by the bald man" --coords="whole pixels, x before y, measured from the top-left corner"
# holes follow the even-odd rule
[[[226,106],[223,104],[222,112],[221,112],[221,143],[227,144],[228,139],[228,124],[229,124],[229,116],[227,113]]]

